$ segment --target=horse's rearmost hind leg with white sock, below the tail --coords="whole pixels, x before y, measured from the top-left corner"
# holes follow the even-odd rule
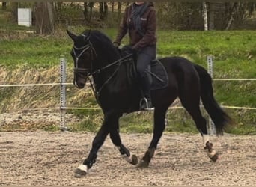
[[[199,98],[195,99],[190,97],[190,99],[182,99],[180,101],[186,111],[192,116],[198,131],[201,133],[204,142],[204,150],[207,150],[207,156],[213,161],[218,159],[218,153],[213,150],[213,144],[210,142],[209,135],[207,135],[207,120],[202,116],[201,110],[199,108]]]

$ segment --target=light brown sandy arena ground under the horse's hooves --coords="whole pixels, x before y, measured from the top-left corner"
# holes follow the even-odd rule
[[[149,168],[129,165],[109,138],[84,178],[73,177],[93,133],[0,132],[0,185],[255,185],[256,136],[225,135],[215,141],[218,162],[202,150],[200,135],[165,134]],[[122,134],[142,156],[149,134]]]

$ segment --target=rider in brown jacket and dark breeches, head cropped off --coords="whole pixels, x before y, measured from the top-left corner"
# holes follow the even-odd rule
[[[113,42],[119,46],[129,31],[129,45],[137,52],[138,83],[142,91],[141,110],[152,108],[150,80],[146,69],[156,58],[156,10],[152,2],[135,2],[126,8],[118,35]]]

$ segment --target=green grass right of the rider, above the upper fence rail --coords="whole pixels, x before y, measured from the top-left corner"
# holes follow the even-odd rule
[[[256,31],[159,31],[158,33],[158,53],[161,56],[184,56],[207,67],[206,57],[213,55],[214,77],[255,77]]]

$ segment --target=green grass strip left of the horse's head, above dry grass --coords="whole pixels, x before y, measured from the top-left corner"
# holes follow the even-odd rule
[[[4,40],[0,46],[0,64],[7,67],[21,64],[29,64],[31,67],[52,67],[58,64],[61,55],[67,58],[70,56],[70,44],[68,40],[59,40],[56,37]]]

